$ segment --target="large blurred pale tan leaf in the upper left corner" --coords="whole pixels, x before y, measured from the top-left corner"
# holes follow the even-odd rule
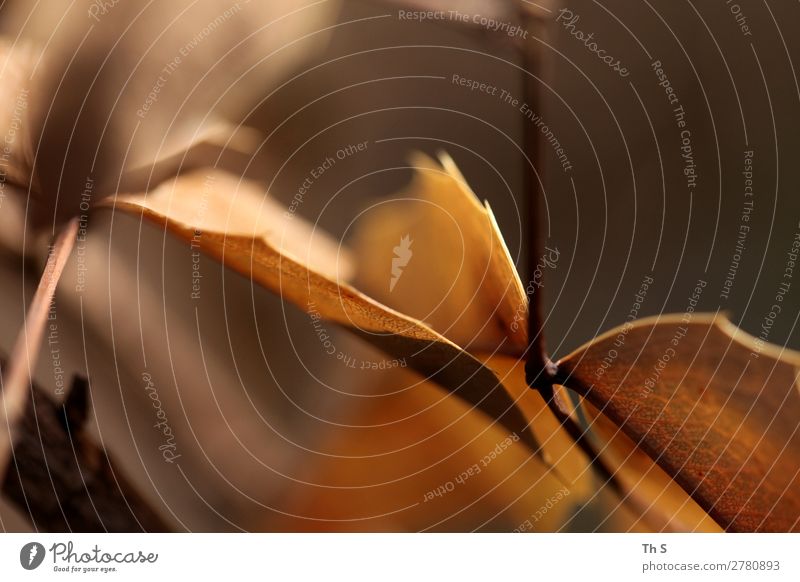
[[[41,47],[46,66],[30,103],[37,225],[78,214],[87,177],[98,200],[209,120],[242,119],[326,46],[339,9],[337,0],[6,4],[4,28]]]

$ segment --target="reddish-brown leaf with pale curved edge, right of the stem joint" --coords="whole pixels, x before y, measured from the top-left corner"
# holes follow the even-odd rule
[[[800,529],[800,355],[722,316],[641,320],[558,365],[724,529]],[[619,342],[617,342],[619,343]]]

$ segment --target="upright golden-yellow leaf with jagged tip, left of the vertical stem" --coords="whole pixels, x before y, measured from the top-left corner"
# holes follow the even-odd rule
[[[488,204],[449,156],[440,160],[413,156],[408,188],[364,211],[353,241],[356,284],[470,351],[521,353],[528,300],[508,248]],[[412,254],[393,271],[403,240]]]

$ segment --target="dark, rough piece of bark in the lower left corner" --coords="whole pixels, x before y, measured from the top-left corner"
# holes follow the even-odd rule
[[[88,388],[76,377],[65,402],[58,404],[31,386],[3,495],[38,531],[169,531],[85,430]]]

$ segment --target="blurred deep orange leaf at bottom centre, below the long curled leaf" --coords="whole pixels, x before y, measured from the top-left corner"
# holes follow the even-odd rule
[[[580,502],[508,431],[434,384],[401,369],[370,381],[389,394],[354,404],[279,529],[554,531]]]

